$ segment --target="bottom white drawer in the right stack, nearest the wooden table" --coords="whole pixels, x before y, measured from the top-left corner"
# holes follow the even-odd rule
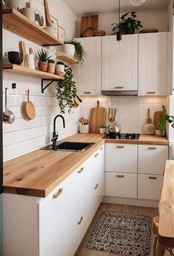
[[[138,199],[159,200],[163,176],[138,174]]]

